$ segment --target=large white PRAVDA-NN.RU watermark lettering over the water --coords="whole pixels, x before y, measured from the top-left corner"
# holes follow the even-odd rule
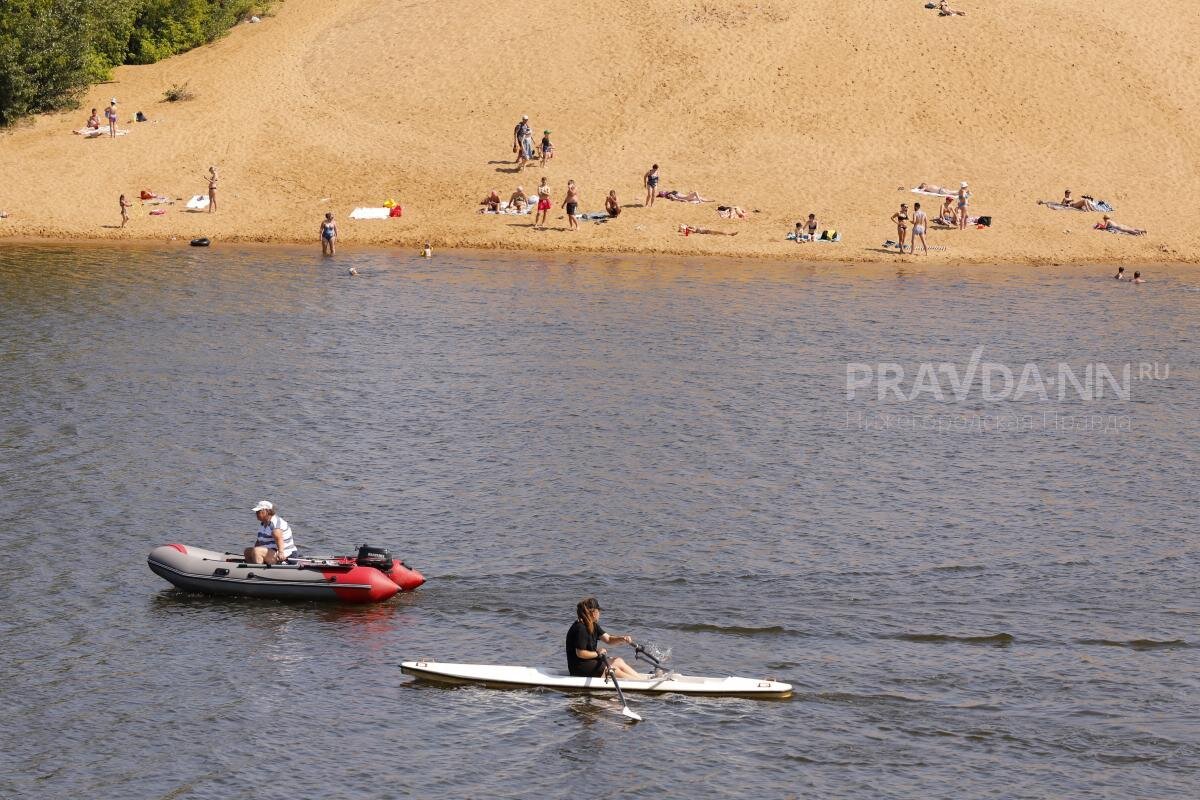
[[[1128,401],[1135,380],[1165,380],[1171,374],[1171,365],[1157,361],[1120,365],[1115,372],[1109,365],[1099,362],[1082,367],[1060,362],[1056,369],[1045,372],[1038,365],[1028,362],[1013,369],[1003,363],[984,361],[983,350],[982,344],[977,347],[965,368],[949,362],[926,361],[917,365],[908,380],[910,373],[899,363],[847,363],[846,399],[874,393],[880,402],[910,402],[920,397],[962,402],[972,391],[978,391],[979,397],[985,401],[1050,402],[1068,397],[1082,401]]]

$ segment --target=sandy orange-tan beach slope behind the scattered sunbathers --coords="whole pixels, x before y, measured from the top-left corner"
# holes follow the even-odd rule
[[[527,4],[286,0],[259,24],[161,64],[121,67],[80,108],[0,134],[4,237],[311,242],[334,211],[341,248],[503,248],[892,261],[890,215],[966,180],[990,228],[937,230],[929,255],[955,264],[1200,261],[1200,17],[1189,0],[959,0],[941,18],[917,0]],[[187,82],[194,100],[162,101]],[[118,97],[116,139],[84,139],[92,107]],[[136,112],[150,121],[133,122]],[[514,172],[528,114],[556,157]],[[130,121],[126,121],[130,120]],[[718,203],[638,207],[642,175]],[[202,194],[216,213],[149,206],[149,190]],[[490,190],[553,188],[548,230],[532,216],[479,215]],[[566,230],[581,211],[623,213]],[[1145,236],[1093,230],[1099,213],[1052,211],[1063,188],[1110,203]],[[118,228],[118,196],[134,201]],[[395,199],[403,217],[352,221]],[[166,209],[151,216],[155,207]],[[812,212],[839,243],[786,241]],[[738,231],[682,236],[680,224]]]

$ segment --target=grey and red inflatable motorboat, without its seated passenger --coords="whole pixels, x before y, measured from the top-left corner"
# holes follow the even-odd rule
[[[274,600],[377,603],[425,583],[425,576],[388,551],[366,545],[356,557],[294,558],[275,565],[246,564],[236,553],[163,545],[150,551],[146,564],[188,591]]]

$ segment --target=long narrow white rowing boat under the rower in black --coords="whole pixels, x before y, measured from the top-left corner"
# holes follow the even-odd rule
[[[542,687],[566,692],[613,692],[611,680],[575,678],[565,669],[535,667],[505,667],[502,664],[456,664],[438,661],[404,661],[400,664],[407,675],[450,684],[480,684],[491,688]],[[625,692],[678,692],[733,697],[787,697],[791,684],[756,678],[695,678],[667,673],[650,680],[622,680]]]

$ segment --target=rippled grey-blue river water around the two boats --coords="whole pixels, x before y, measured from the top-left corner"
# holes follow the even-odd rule
[[[1195,796],[1200,278],[1108,275],[0,245],[0,796]],[[146,569],[259,498],[428,583]],[[557,666],[588,595],[796,694],[400,672]]]

